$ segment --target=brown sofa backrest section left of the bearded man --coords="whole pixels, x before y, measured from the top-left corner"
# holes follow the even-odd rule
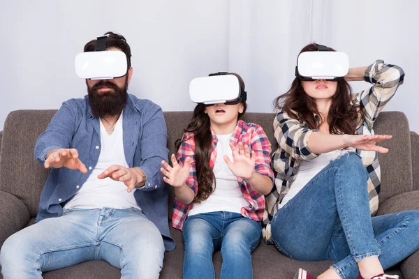
[[[38,136],[56,110],[17,110],[8,114],[3,127],[0,190],[18,197],[31,217],[38,213],[39,199],[49,170],[34,158]]]

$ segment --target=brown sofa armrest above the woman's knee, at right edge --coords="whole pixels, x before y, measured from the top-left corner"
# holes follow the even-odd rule
[[[391,214],[406,210],[419,210],[419,190],[390,197],[378,206],[377,215]]]

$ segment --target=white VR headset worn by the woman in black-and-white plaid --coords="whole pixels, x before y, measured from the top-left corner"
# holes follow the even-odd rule
[[[317,48],[317,52],[302,52],[298,56],[295,76],[304,81],[342,80],[349,70],[348,55],[328,51],[324,45]]]

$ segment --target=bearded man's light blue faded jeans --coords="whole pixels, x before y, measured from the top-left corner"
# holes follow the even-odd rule
[[[0,262],[4,279],[93,260],[122,269],[122,278],[149,279],[159,278],[163,255],[159,229],[138,209],[70,209],[10,236]]]

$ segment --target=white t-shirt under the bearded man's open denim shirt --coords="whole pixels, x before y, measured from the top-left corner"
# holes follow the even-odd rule
[[[135,207],[140,209],[135,202],[134,192],[126,192],[127,187],[123,182],[114,181],[109,177],[98,179],[98,175],[111,165],[122,165],[128,168],[125,160],[124,142],[123,142],[123,122],[122,114],[114,125],[114,132],[111,135],[106,133],[102,121],[101,126],[101,154],[98,163],[91,172],[89,178],[64,206],[64,209],[101,209],[108,207],[112,209],[128,209]]]

